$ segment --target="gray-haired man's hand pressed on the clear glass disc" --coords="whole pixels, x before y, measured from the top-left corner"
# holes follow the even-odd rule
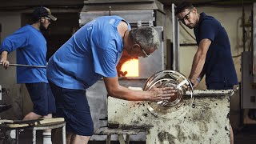
[[[158,102],[163,100],[170,100],[170,98],[172,98],[177,91],[174,90],[173,87],[153,87],[149,92],[151,93],[149,101]]]

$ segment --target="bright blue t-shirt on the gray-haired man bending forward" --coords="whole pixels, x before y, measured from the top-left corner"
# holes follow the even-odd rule
[[[50,82],[67,89],[85,90],[102,77],[116,77],[123,50],[117,28],[121,21],[125,20],[105,16],[82,26],[50,58],[47,66]]]

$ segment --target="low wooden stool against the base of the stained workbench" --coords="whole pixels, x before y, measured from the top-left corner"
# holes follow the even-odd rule
[[[98,130],[95,130],[94,134],[97,135],[107,135],[106,136],[106,144],[110,144],[111,142],[111,135],[112,134],[118,134],[118,139],[120,144],[129,144],[130,142],[130,135],[137,135],[139,132],[145,131],[142,129],[130,129],[130,130],[124,130],[124,129],[110,129],[108,127],[101,127],[98,128]],[[123,138],[123,134],[126,134],[126,140]]]

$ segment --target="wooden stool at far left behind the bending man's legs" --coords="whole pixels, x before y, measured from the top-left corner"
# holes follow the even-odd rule
[[[66,122],[64,118],[42,118],[37,120],[8,120],[0,119],[2,130],[16,131],[16,144],[18,144],[18,130],[33,130],[33,144],[36,143],[36,130],[57,129],[62,127],[62,141],[66,144]]]

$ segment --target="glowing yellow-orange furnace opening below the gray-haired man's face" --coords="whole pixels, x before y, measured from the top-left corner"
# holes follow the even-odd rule
[[[132,58],[122,64],[121,71],[126,77],[138,77],[138,58]]]

